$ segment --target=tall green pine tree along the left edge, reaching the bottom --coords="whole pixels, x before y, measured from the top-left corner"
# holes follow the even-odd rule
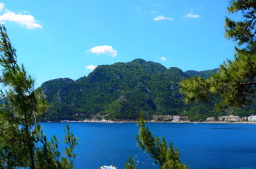
[[[0,25],[0,36],[0,168],[73,168],[76,137],[67,127],[67,158],[60,157],[56,137],[47,142],[39,124],[47,111],[47,102],[41,90],[34,88],[35,80],[24,65],[18,65],[16,49],[3,25]]]

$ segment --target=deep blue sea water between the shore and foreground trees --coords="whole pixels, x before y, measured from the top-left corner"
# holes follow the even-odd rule
[[[42,123],[47,137],[63,140],[67,123]],[[69,123],[77,136],[75,168],[102,165],[124,168],[128,156],[138,169],[159,168],[136,146],[136,123]],[[256,125],[223,123],[147,123],[154,136],[178,148],[182,163],[191,169],[256,169]],[[62,147],[63,149],[63,147]]]

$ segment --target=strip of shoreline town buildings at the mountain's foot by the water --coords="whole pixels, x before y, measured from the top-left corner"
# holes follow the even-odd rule
[[[50,121],[49,121],[50,122]],[[61,123],[136,123],[136,120],[106,120],[92,118],[90,120],[59,120]],[[146,120],[147,123],[256,123],[256,115],[240,118],[235,115],[221,116],[219,118],[209,117],[207,120],[190,121],[188,115],[153,115],[152,120]]]

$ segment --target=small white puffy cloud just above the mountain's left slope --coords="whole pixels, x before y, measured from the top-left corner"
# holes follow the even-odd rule
[[[106,54],[112,57],[117,56],[117,51],[115,51],[112,46],[107,46],[107,45],[103,45],[103,46],[95,46],[92,49],[88,50],[88,52],[91,52],[93,54]]]

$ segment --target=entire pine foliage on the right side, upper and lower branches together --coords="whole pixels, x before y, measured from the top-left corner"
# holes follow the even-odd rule
[[[209,78],[190,77],[180,84],[185,101],[219,99],[221,108],[251,104],[256,84],[256,1],[232,0],[229,13],[242,14],[241,20],[226,18],[226,37],[237,42],[235,58],[221,65]]]

